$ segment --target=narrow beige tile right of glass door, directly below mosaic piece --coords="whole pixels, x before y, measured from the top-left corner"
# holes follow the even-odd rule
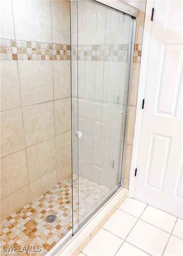
[[[136,106],[137,104],[139,73],[140,73],[140,63],[134,62],[133,70],[132,70],[131,90],[130,90],[130,105],[132,106]]]

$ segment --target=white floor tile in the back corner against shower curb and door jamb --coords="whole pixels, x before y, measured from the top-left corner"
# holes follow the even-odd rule
[[[119,209],[139,218],[140,214],[143,212],[146,206],[147,204],[143,202],[127,197],[119,206]]]

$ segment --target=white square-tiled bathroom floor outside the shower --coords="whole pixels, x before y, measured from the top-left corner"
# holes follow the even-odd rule
[[[126,198],[79,256],[182,256],[183,220]]]

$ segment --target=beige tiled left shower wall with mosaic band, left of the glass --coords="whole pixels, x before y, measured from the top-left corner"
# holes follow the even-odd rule
[[[2,0],[0,38],[4,219],[71,175],[70,3]]]

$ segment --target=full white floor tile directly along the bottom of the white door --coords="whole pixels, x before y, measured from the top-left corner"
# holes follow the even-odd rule
[[[171,233],[177,217],[148,205],[140,219]]]

